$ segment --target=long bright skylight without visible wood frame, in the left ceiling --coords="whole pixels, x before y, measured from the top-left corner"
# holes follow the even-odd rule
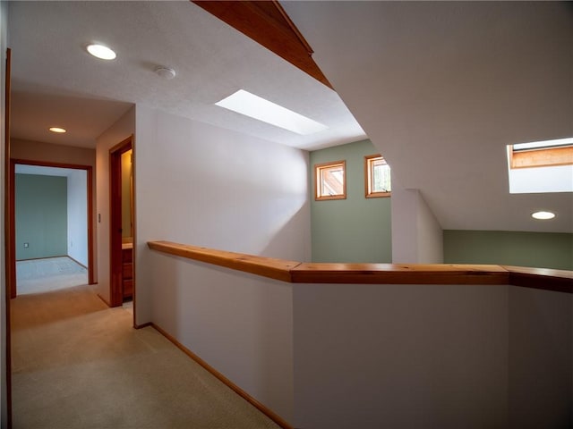
[[[277,105],[262,97],[255,96],[244,89],[239,89],[235,94],[223,98],[215,104],[232,110],[237,114],[244,114],[258,121],[267,122],[301,135],[312,134],[329,128],[302,114],[288,110],[282,105]]]

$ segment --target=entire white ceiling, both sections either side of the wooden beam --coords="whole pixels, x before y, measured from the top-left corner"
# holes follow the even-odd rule
[[[11,2],[13,137],[93,147],[133,104],[304,149],[364,129],[444,229],[573,231],[571,193],[509,195],[505,164],[507,144],[573,136],[570,4],[281,3],[338,94],[187,0]],[[93,40],[117,59],[86,54]],[[330,130],[298,136],[214,105],[239,88]],[[541,208],[558,217],[531,220]]]

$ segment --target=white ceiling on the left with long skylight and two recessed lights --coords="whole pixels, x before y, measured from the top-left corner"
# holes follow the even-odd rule
[[[335,91],[189,1],[10,2],[8,19],[15,138],[95,147],[133,104],[304,149],[365,137]],[[92,41],[117,58],[88,55]],[[214,105],[240,88],[329,130],[300,136]]]

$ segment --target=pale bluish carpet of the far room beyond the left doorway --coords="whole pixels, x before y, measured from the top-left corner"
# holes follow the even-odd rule
[[[88,283],[88,270],[70,257],[16,261],[18,295],[65,289]]]

